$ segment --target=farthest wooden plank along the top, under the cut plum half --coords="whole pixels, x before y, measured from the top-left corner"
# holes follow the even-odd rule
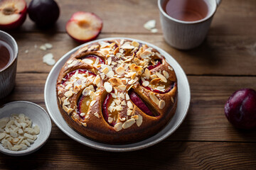
[[[161,33],[159,9],[156,0],[56,0],[60,6],[60,18],[52,32],[65,32],[65,23],[76,11],[96,13],[104,22],[103,33],[150,33],[143,24],[156,20],[156,28]],[[29,1],[28,1],[29,2]],[[255,0],[222,1],[215,13],[210,34],[214,35],[255,35]],[[30,18],[20,31],[39,31]]]

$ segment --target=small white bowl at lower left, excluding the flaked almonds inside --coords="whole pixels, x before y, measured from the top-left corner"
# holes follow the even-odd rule
[[[6,103],[4,106],[0,108],[0,118],[11,117],[12,114],[21,114],[28,116],[33,122],[32,125],[38,125],[40,128],[40,133],[38,134],[38,138],[25,150],[21,151],[11,151],[9,149],[5,149],[0,144],[0,152],[4,154],[8,154],[11,156],[23,156],[26,154],[31,154],[36,152],[36,150],[40,149],[48,140],[51,131],[51,122],[50,117],[46,111],[38,106],[35,103],[29,101],[14,101],[11,103]]]

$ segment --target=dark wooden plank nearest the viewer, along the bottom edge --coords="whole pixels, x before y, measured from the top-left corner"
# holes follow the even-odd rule
[[[0,154],[1,169],[253,169],[255,144],[160,142],[136,152],[103,152],[73,140],[49,140],[24,157]],[[14,164],[15,162],[15,164]]]

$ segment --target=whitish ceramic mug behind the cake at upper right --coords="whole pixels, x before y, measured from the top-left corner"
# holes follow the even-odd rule
[[[161,28],[164,39],[169,45],[180,50],[189,50],[201,45],[206,38],[214,13],[221,0],[204,0],[208,6],[208,14],[198,21],[180,21],[172,18],[164,11],[164,2],[159,0]]]

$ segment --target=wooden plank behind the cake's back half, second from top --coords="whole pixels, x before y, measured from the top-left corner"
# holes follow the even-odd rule
[[[79,45],[65,33],[54,35],[50,33],[16,33],[12,35],[17,40],[19,47],[18,72],[50,72],[52,67],[43,63],[43,55],[52,52],[55,60],[59,60],[66,52]],[[99,38],[125,36],[151,42],[169,52],[181,64],[186,74],[255,75],[255,35],[250,37],[209,35],[203,45],[189,51],[175,50],[164,42],[161,35],[101,34]],[[39,47],[46,42],[51,42],[53,49],[39,50]]]

